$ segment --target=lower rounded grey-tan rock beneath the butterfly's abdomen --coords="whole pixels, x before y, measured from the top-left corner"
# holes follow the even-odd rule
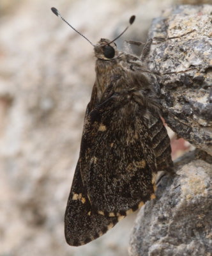
[[[183,166],[182,166],[183,165]],[[212,255],[211,164],[188,154],[135,221],[130,256]]]

